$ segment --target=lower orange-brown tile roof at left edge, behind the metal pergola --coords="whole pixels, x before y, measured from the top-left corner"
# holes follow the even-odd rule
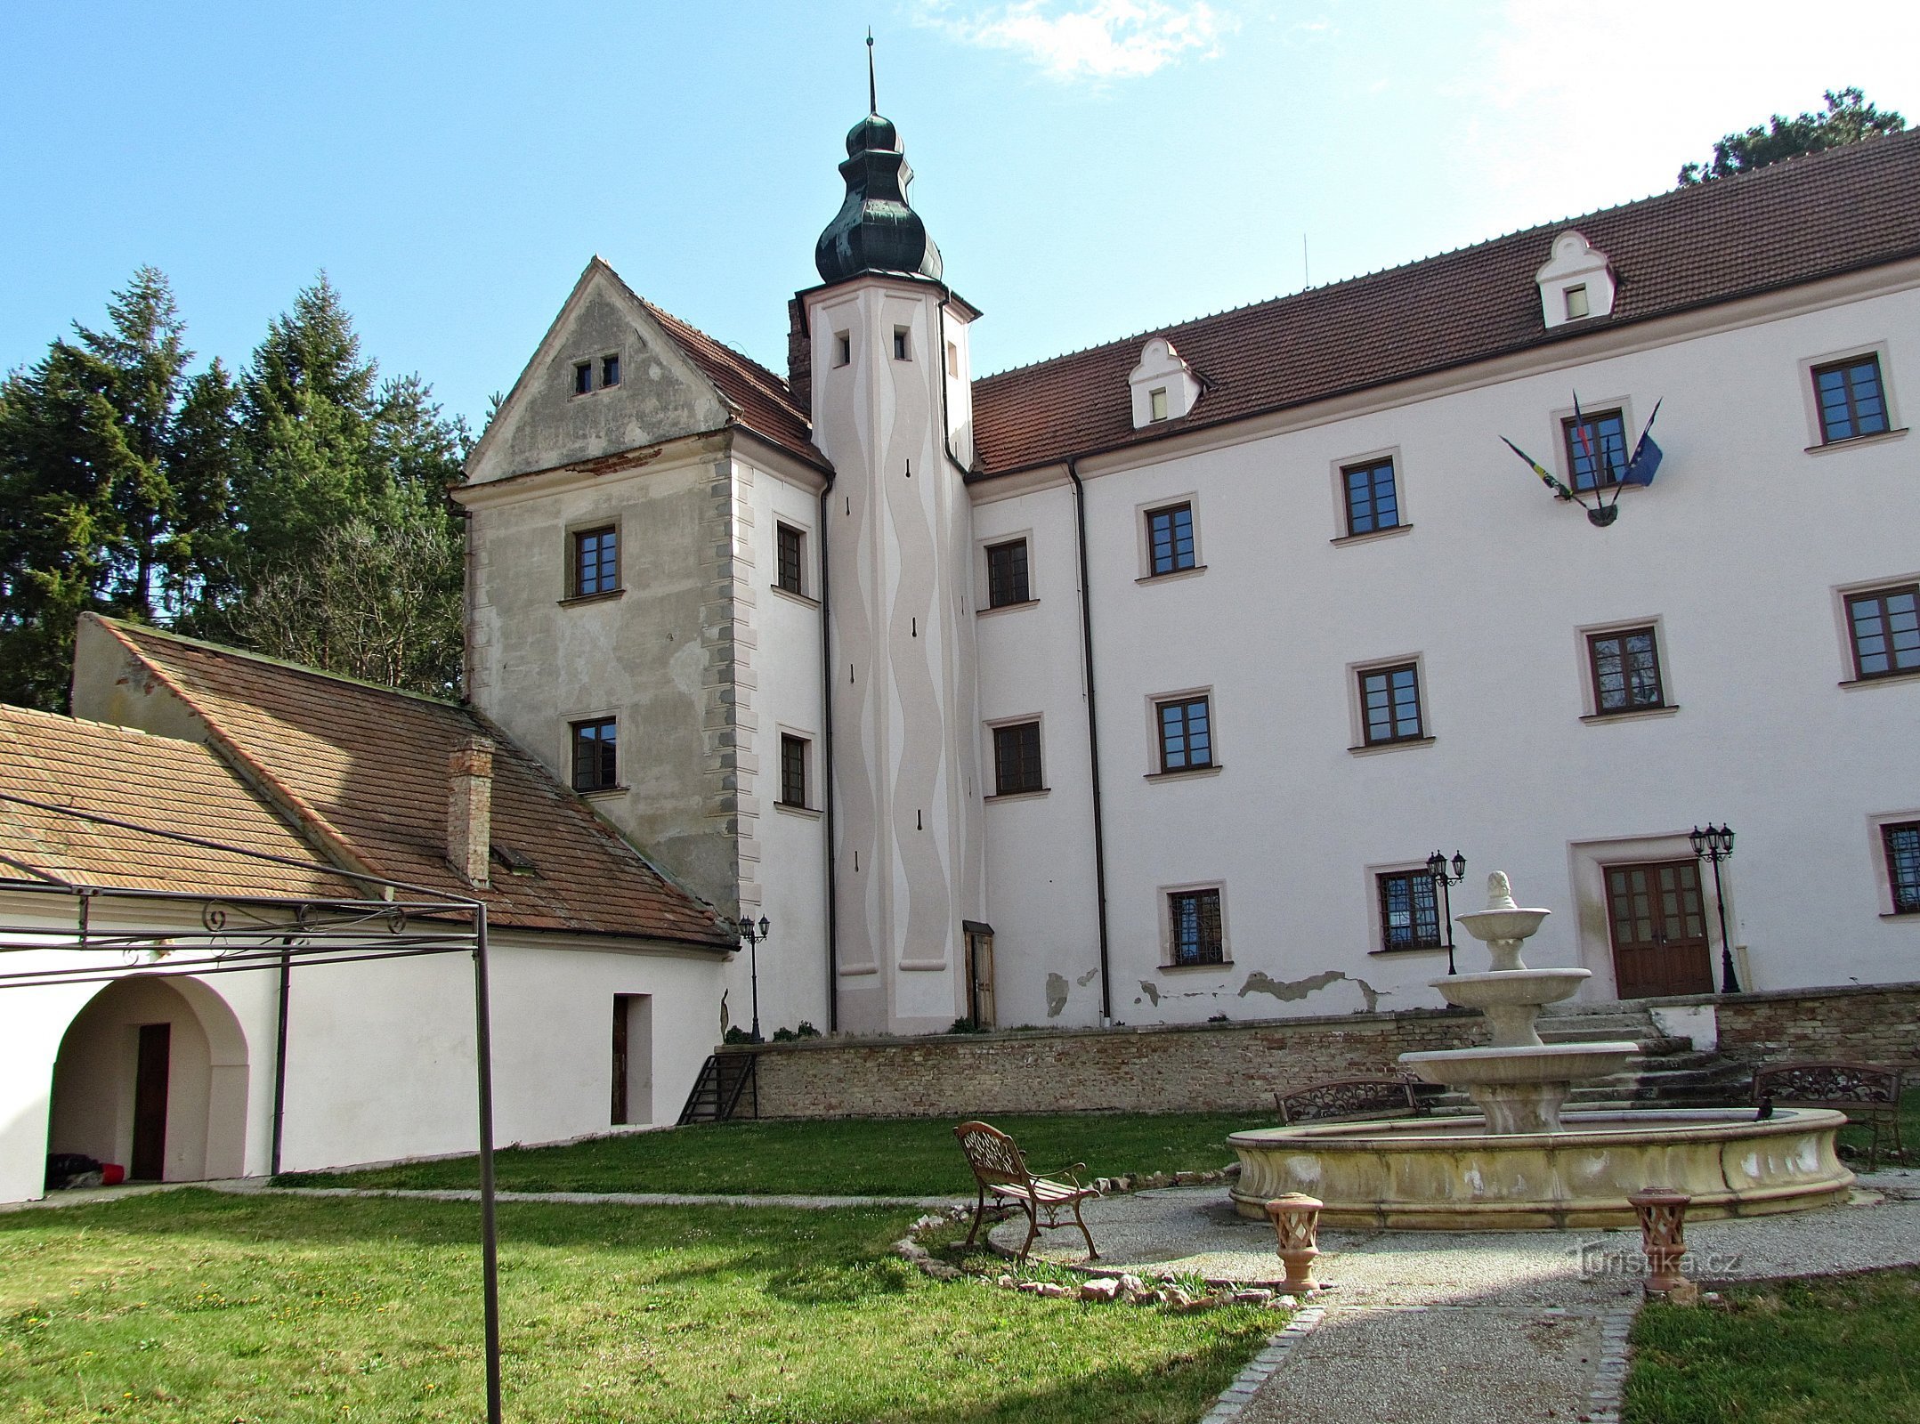
[[[365,894],[330,875],[330,864],[200,743],[0,706],[0,795],[305,862],[275,866],[0,800],[6,879],[190,894]]]

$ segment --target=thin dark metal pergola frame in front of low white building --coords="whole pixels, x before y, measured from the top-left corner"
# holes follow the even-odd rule
[[[275,1048],[275,1142],[273,1169],[280,1159],[280,1094],[286,1082],[288,979],[296,963],[374,963],[415,960],[436,954],[470,954],[474,961],[474,1098],[480,1115],[480,1261],[486,1317],[486,1416],[501,1424],[499,1389],[499,1234],[493,1213],[493,1029],[488,986],[486,904],[447,896],[420,885],[388,881],[378,875],[340,869],[313,860],[273,856],[205,837],[167,831],[157,825],[60,806],[0,793],[0,804],[27,806],[92,825],[150,835],[175,844],[217,850],[252,862],[290,866],[315,875],[346,881],[369,890],[351,896],[267,896],[219,894],[217,890],[148,890],[111,885],[84,885],[52,875],[0,875],[0,892],[40,894],[73,900],[73,929],[46,923],[15,925],[0,921],[0,956],[6,954],[123,954],[121,967],[83,963],[56,969],[8,969],[0,958],[0,990],[50,988],[58,985],[106,985],[121,979],[200,979],[223,973],[280,971],[278,1038]],[[0,862],[0,867],[10,862]],[[17,869],[31,869],[13,866]],[[136,929],[96,929],[98,910],[134,906],[127,919],[148,921]],[[154,915],[161,906],[198,912],[200,927],[167,927]],[[48,919],[54,919],[52,915]],[[144,956],[134,961],[134,956]]]

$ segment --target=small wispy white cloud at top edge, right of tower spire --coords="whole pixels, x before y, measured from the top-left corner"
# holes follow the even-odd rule
[[[968,44],[1023,54],[1062,81],[1140,79],[1181,58],[1217,54],[1235,27],[1204,0],[1016,0],[956,10],[937,0],[925,19]]]

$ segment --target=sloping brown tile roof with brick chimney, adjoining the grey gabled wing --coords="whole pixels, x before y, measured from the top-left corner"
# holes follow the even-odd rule
[[[294,816],[374,875],[476,896],[501,925],[735,948],[712,910],[472,710],[100,622],[202,716],[228,756],[257,768]],[[497,747],[493,844],[534,864],[520,875],[495,862],[488,890],[445,860],[447,756],[467,737]]]

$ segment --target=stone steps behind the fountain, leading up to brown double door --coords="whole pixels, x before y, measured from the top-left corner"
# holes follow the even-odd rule
[[[1690,1038],[1668,1038],[1653,1015],[1634,1004],[1561,1006],[1540,1011],[1540,1040],[1572,1044],[1594,1040],[1632,1040],[1640,1056],[1607,1079],[1576,1082],[1567,1098],[1569,1111],[1596,1113],[1617,1107],[1726,1107],[1747,1102],[1749,1069],[1718,1054],[1695,1052]],[[1469,1111],[1463,1092],[1432,1100],[1436,1111]]]

